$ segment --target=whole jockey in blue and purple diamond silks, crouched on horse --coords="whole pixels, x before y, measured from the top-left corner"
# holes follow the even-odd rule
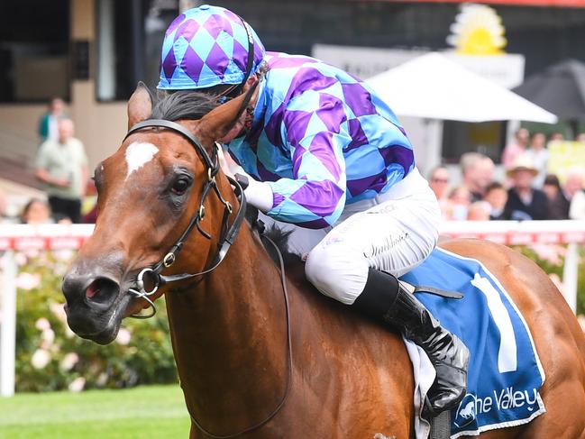
[[[290,244],[308,253],[306,277],[319,291],[422,347],[436,370],[428,416],[455,407],[469,352],[397,279],[434,249],[441,212],[396,115],[341,69],[266,52],[227,9],[202,5],[170,24],[159,89],[225,100],[257,82],[221,139],[250,176],[248,201],[293,224]]]

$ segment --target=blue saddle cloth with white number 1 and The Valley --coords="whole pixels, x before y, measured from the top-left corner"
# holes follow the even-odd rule
[[[526,321],[480,261],[436,249],[401,279],[464,295],[457,300],[416,293],[471,352],[468,394],[452,410],[452,438],[526,424],[544,413],[544,370]]]

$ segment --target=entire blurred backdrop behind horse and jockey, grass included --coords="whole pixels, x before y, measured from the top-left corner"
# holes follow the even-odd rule
[[[128,98],[138,81],[155,89],[166,28],[203,3],[0,2],[0,393],[23,393],[0,398],[0,437],[78,437],[80,428],[85,437],[187,434],[164,306],[97,346],[65,324],[60,277],[91,233],[96,191],[88,177],[120,145]],[[442,206],[443,232],[523,244],[516,248],[549,273],[578,315],[585,312],[585,0],[214,5],[244,17],[267,50],[315,56],[367,79],[404,123]],[[61,176],[48,173],[50,142],[75,142],[78,151]],[[526,195],[541,203],[525,206]],[[523,233],[487,225],[499,220],[544,225]],[[43,228],[56,223],[64,225]],[[5,325],[13,314],[14,334]],[[580,322],[585,327],[584,316]],[[6,363],[14,352],[14,364]],[[50,390],[66,392],[26,393]]]

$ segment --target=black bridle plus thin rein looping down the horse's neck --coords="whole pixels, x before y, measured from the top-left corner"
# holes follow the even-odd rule
[[[128,136],[130,136],[131,134],[136,133],[137,131],[143,130],[145,128],[160,128],[160,127],[167,128],[167,129],[174,131],[176,133],[179,133],[182,136],[187,138],[187,140],[193,145],[193,147],[197,151],[197,154],[201,157],[201,159],[204,161],[204,164],[206,165],[207,181],[206,181],[205,186],[203,187],[203,191],[201,194],[201,201],[199,203],[199,208],[197,209],[197,214],[191,218],[191,221],[187,225],[187,228],[185,229],[185,231],[178,238],[178,241],[173,244],[173,246],[170,248],[169,252],[164,256],[164,258],[162,258],[161,261],[159,261],[156,265],[154,265],[154,267],[145,268],[138,274],[138,277],[136,279],[136,285],[137,285],[138,289],[133,289],[133,288],[129,289],[129,292],[134,297],[142,297],[151,306],[151,314],[145,315],[145,316],[133,315],[132,317],[134,317],[134,318],[149,318],[149,317],[154,316],[156,314],[156,306],[154,306],[154,302],[152,302],[150,296],[153,295],[159,289],[159,287],[161,287],[162,285],[165,285],[165,284],[170,283],[170,282],[178,282],[181,280],[193,279],[193,278],[196,278],[198,276],[204,276],[207,273],[210,273],[211,271],[215,270],[219,266],[219,264],[221,264],[222,261],[224,261],[225,255],[227,254],[227,252],[229,251],[233,242],[235,241],[235,238],[237,237],[238,232],[240,231],[240,228],[242,227],[242,223],[243,223],[243,220],[245,217],[245,212],[246,212],[246,206],[247,206],[246,197],[245,197],[245,194],[243,193],[242,185],[240,185],[240,183],[236,179],[233,179],[231,177],[226,176],[228,178],[228,180],[230,181],[230,183],[232,184],[232,186],[234,187],[233,192],[235,193],[235,196],[237,197],[238,203],[239,203],[239,207],[238,207],[238,210],[236,212],[235,219],[233,220],[233,223],[230,225],[228,219],[229,219],[229,216],[233,214],[233,206],[230,204],[229,201],[226,201],[225,198],[222,196],[222,193],[220,192],[219,187],[217,187],[217,183],[215,181],[215,175],[217,175],[217,172],[220,169],[219,160],[217,157],[217,151],[220,148],[220,145],[217,142],[215,142],[213,154],[210,156],[207,153],[206,149],[197,140],[197,137],[195,135],[193,135],[193,133],[190,133],[185,127],[183,127],[182,125],[180,125],[178,123],[170,122],[170,121],[166,121],[166,120],[162,120],[162,119],[151,119],[151,120],[143,121],[140,123],[136,123],[130,130],[128,130],[128,133],[126,133],[124,140],[126,140],[128,138]],[[207,195],[209,194],[209,192],[212,189],[214,190],[216,196],[219,198],[221,203],[224,205],[224,216],[222,219],[222,227],[221,227],[222,232],[221,232],[221,235],[220,235],[219,240],[218,240],[218,250],[215,253],[214,260],[211,261],[211,263],[209,264],[209,266],[205,270],[200,271],[198,273],[181,273],[181,274],[175,274],[175,275],[169,275],[169,276],[164,276],[164,275],[160,274],[162,272],[162,270],[169,268],[175,261],[177,261],[178,253],[183,248],[183,244],[185,243],[189,234],[191,233],[191,231],[195,227],[197,227],[197,230],[199,231],[199,233],[201,233],[207,239],[211,239],[211,234],[207,233],[205,230],[203,230],[201,228],[200,222],[206,215],[206,209],[205,209],[204,203],[205,203]],[[282,254],[281,254],[277,244],[274,241],[272,241],[270,239],[270,237],[268,237],[266,235],[263,235],[263,237],[266,238],[266,240],[268,240],[268,242],[270,242],[270,244],[274,247],[277,254],[279,255],[280,282],[282,284],[282,292],[283,292],[283,296],[284,296],[286,322],[287,322],[287,369],[288,369],[287,370],[287,372],[288,372],[287,373],[287,382],[285,385],[285,390],[284,390],[284,393],[282,395],[282,398],[280,398],[279,404],[277,405],[277,407],[275,407],[270,412],[270,415],[266,416],[261,422],[254,424],[254,425],[251,425],[247,428],[244,428],[237,433],[233,433],[233,434],[214,434],[214,433],[211,433],[210,431],[206,430],[206,428],[203,425],[201,425],[199,423],[199,421],[197,421],[195,416],[193,416],[193,414],[191,413],[191,410],[188,409],[188,407],[187,407],[187,411],[189,412],[189,417],[191,418],[191,422],[194,425],[196,425],[197,428],[201,432],[203,432],[204,434],[206,434],[210,437],[213,437],[215,439],[231,439],[233,437],[241,436],[242,434],[251,433],[252,431],[257,430],[257,429],[261,428],[262,426],[268,424],[270,422],[270,420],[272,420],[272,418],[274,418],[274,416],[277,416],[277,414],[279,414],[280,409],[282,407],[284,407],[284,405],[287,401],[287,398],[288,398],[288,394],[290,393],[290,382],[292,381],[292,370],[293,370],[293,355],[292,355],[292,342],[291,342],[291,335],[290,335],[290,306],[289,306],[289,301],[288,301],[288,288],[287,288],[287,279],[286,279],[286,275],[285,275],[285,266],[284,266],[284,261],[282,259]],[[146,289],[147,287],[145,286],[145,280],[146,280],[145,276],[149,279],[146,282],[151,284],[150,290]]]

